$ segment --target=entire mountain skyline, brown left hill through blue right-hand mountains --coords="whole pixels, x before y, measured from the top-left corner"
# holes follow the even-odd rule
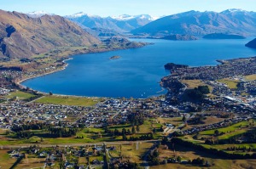
[[[91,46],[101,43],[95,36],[113,37],[115,31],[118,35],[131,31],[175,40],[211,33],[256,35],[256,13],[239,9],[189,11],[155,19],[148,14],[103,18],[78,13],[61,17],[42,11],[21,14],[0,10],[0,59],[27,58],[56,47]]]

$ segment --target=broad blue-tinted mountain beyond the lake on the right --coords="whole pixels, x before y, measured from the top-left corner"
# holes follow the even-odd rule
[[[229,9],[221,13],[189,11],[154,20],[131,33],[135,35],[185,34],[203,36],[211,33],[256,34],[256,13]]]

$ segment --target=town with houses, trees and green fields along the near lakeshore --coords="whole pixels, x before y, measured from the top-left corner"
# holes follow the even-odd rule
[[[255,60],[176,67],[161,82],[168,93],[148,99],[61,96],[19,83],[64,63],[40,72],[0,70],[0,151],[8,161],[0,166],[218,167],[207,156],[185,155],[183,144],[237,161],[255,159]]]

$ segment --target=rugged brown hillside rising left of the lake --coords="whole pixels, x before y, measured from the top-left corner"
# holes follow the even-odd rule
[[[0,10],[0,59],[29,58],[55,47],[100,43],[79,25],[57,15],[29,17]]]

